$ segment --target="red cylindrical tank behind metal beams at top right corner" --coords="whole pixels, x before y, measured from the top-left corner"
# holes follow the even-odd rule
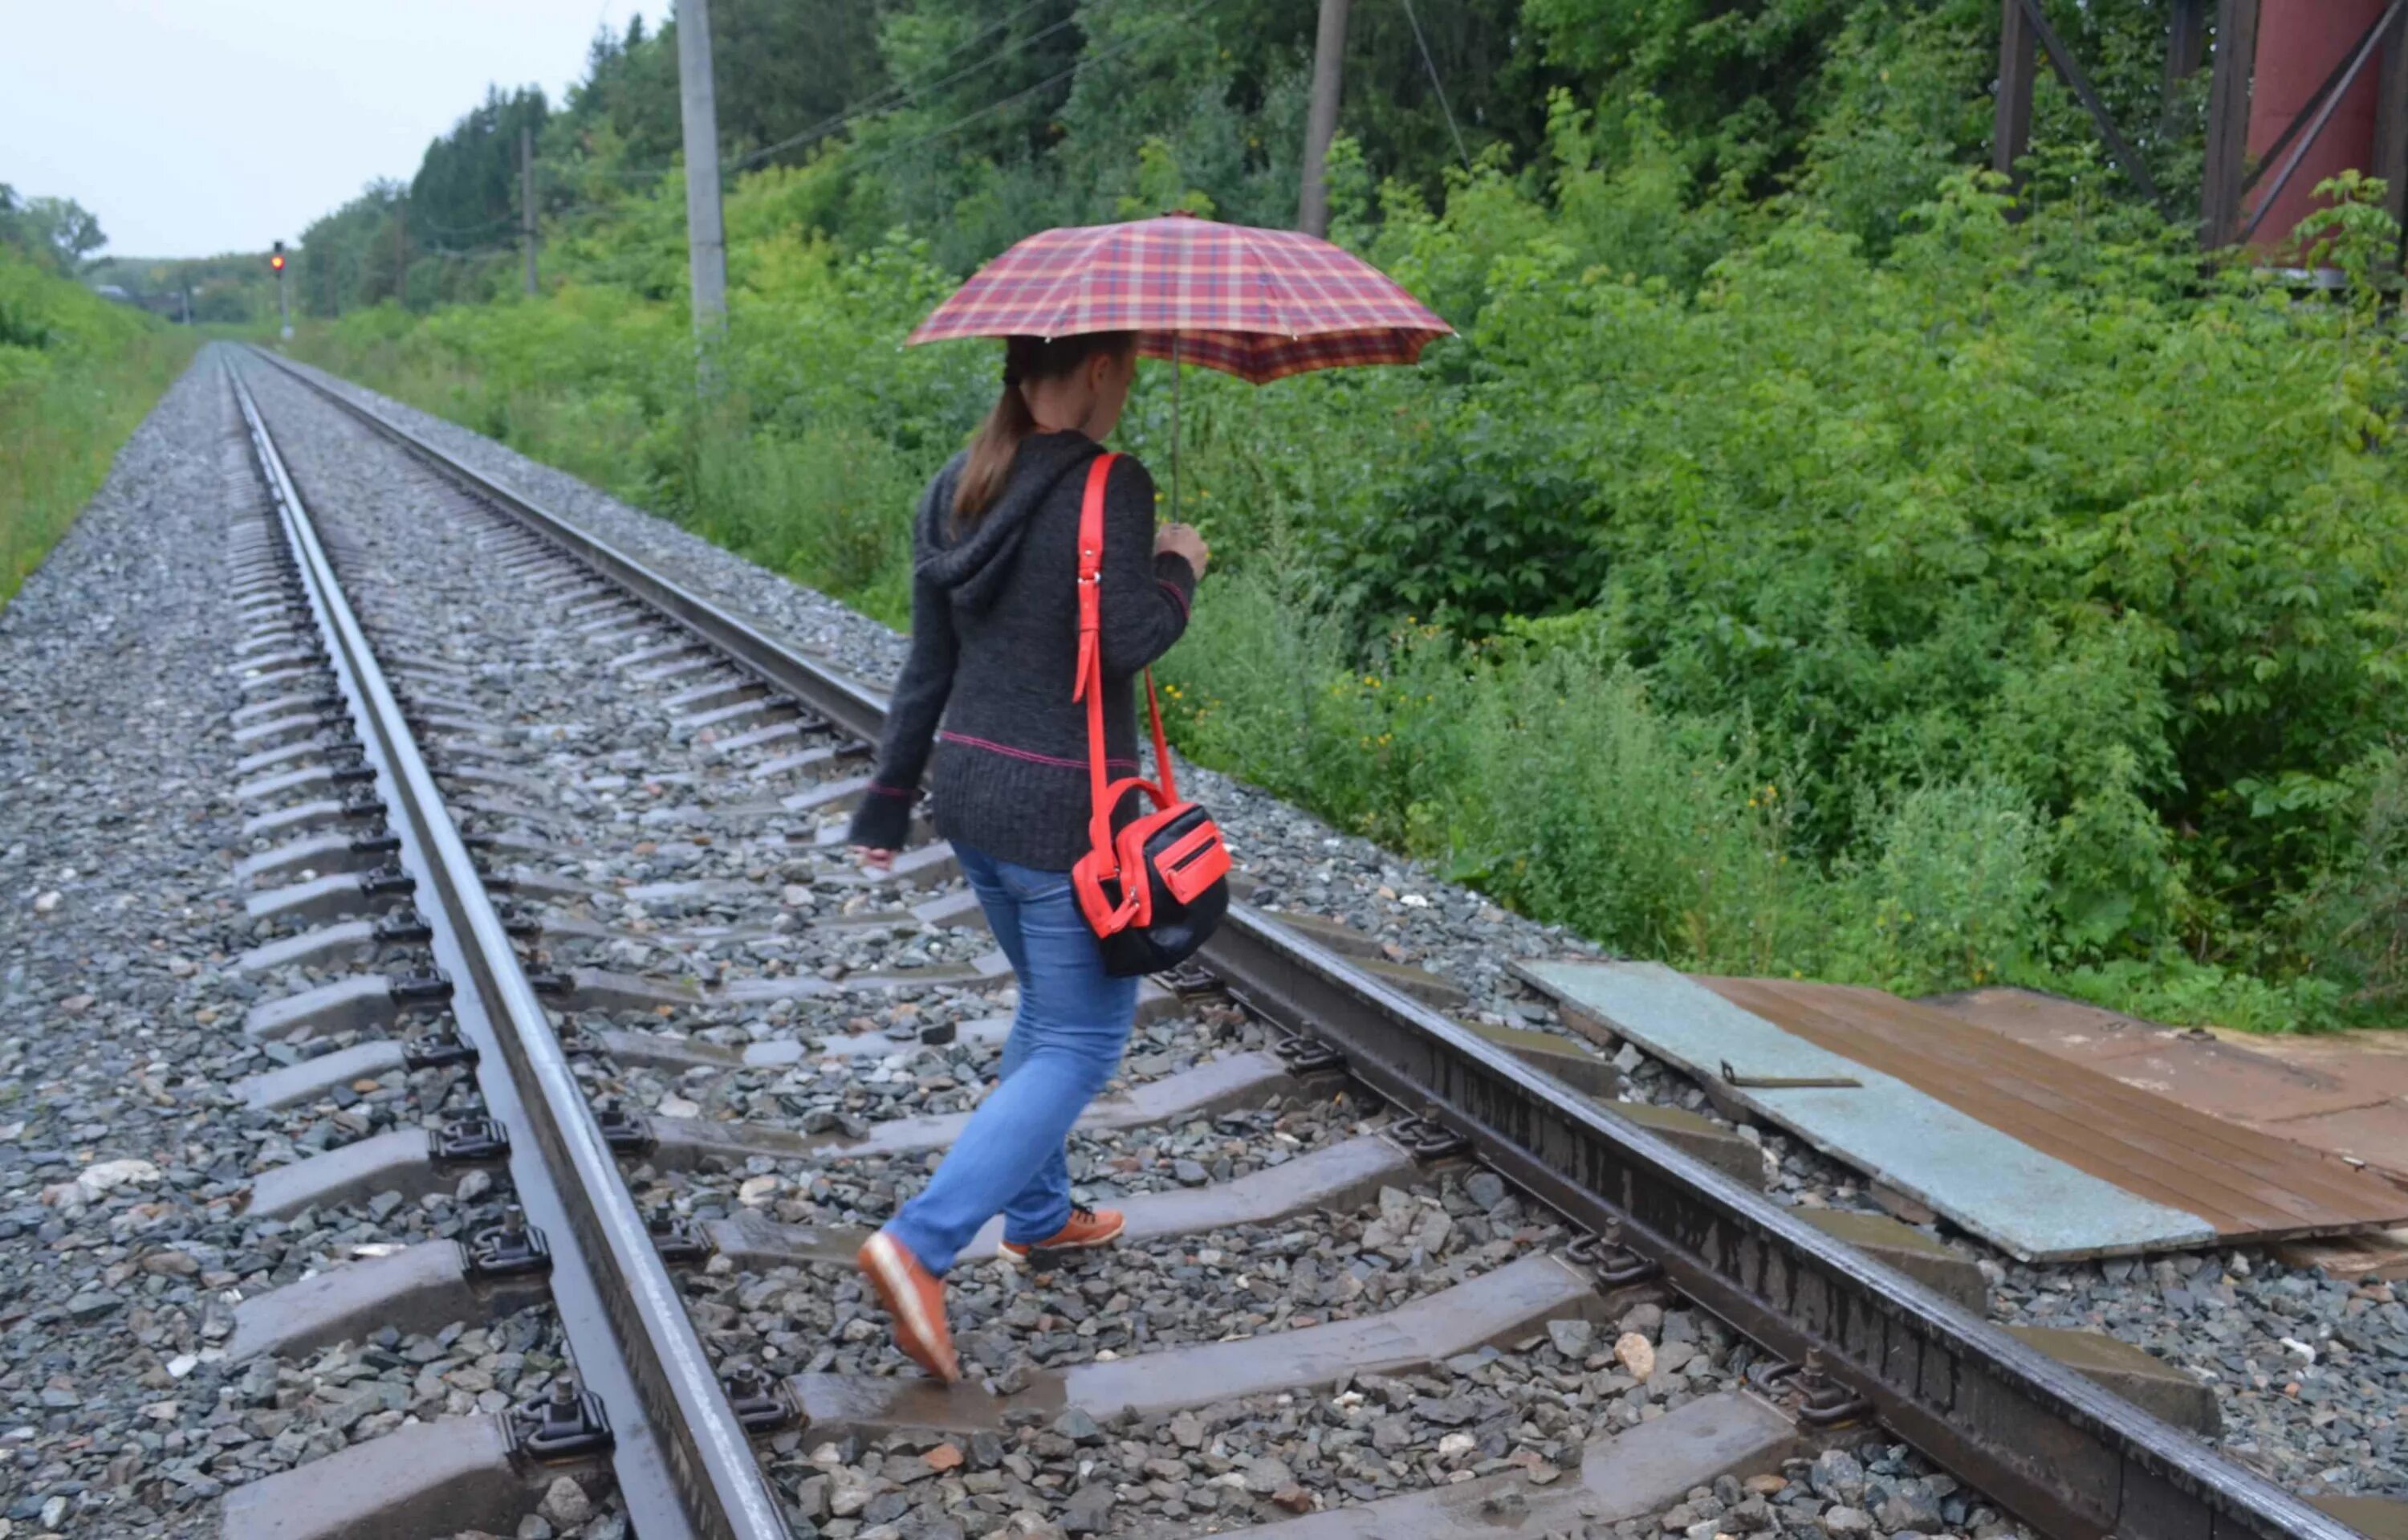
[[[2283,128],[2300,116],[2307,99],[2316,94],[2367,29],[2384,14],[2386,0],[2261,0],[2259,5],[2259,58],[2256,84],[2249,92],[2249,159],[2266,161],[2266,149]],[[2338,171],[2365,171],[2374,159],[2374,77],[2382,72],[2382,53],[2357,72],[2331,123],[2309,147],[2300,169],[2292,171],[2283,195],[2259,219],[2254,246],[2280,246],[2300,219],[2316,212],[2316,183]],[[2307,125],[2300,125],[2307,133]],[[2300,147],[2292,137],[2266,166],[2256,193],[2249,198],[2249,214],[2256,212],[2273,186],[2283,159]],[[2247,214],[2244,214],[2247,217]]]

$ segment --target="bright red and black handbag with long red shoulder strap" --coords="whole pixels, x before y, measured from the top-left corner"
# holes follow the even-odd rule
[[[1103,484],[1120,455],[1096,455],[1079,506],[1079,682],[1069,699],[1086,699],[1086,769],[1093,786],[1091,851],[1072,868],[1079,911],[1103,942],[1103,971],[1115,978],[1161,974],[1204,945],[1228,913],[1228,846],[1211,815],[1180,800],[1163,740],[1163,706],[1146,670],[1146,711],[1153,716],[1153,769],[1112,781],[1103,766]],[[1115,834],[1125,798],[1153,803]]]

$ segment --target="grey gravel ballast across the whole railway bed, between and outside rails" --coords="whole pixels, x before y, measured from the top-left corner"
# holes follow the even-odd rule
[[[510,906],[542,925],[537,962],[703,991],[836,986],[576,1012],[588,1034],[641,1029],[775,1051],[773,1063],[737,1070],[580,1058],[597,1097],[662,1118],[848,1135],[975,1104],[997,1046],[915,1039],[1011,1010],[1009,974],[963,978],[992,940],[978,925],[908,921],[908,906],[951,889],[864,887],[843,848],[824,844],[833,819],[775,805],[814,776],[857,774],[857,762],[756,778],[775,750],[732,752],[718,733],[677,730],[679,694],[708,672],[607,672],[643,646],[641,634],[583,624],[551,598],[559,574],[544,564],[479,569],[477,542],[491,535],[477,530],[501,528],[489,513],[270,369],[248,364],[246,378],[303,494],[342,530],[337,562],[361,574],[354,603],[380,651],[393,643],[450,670],[443,684],[433,675],[412,684],[458,723],[431,757],[472,834],[525,841],[494,868],[530,872]],[[884,682],[901,663],[901,639],[824,595],[498,443],[337,388],[840,670]],[[205,1533],[207,1499],[229,1485],[407,1419],[491,1410],[537,1391],[559,1364],[547,1311],[383,1333],[287,1362],[224,1359],[236,1299],[409,1241],[474,1234],[508,1200],[494,1181],[470,1181],[291,1222],[238,1212],[260,1171],[462,1111],[472,1092],[458,1070],[395,1070],[279,1111],[243,1111],[226,1094],[241,1075],[349,1041],[241,1036],[250,1005],[352,971],[231,966],[241,950],[296,930],[246,918],[246,889],[231,877],[231,860],[260,848],[238,834],[260,807],[234,798],[243,774],[229,718],[253,696],[229,668],[241,629],[224,605],[224,552],[236,521],[258,509],[231,398],[205,362],[0,612],[0,699],[36,728],[0,740],[0,783],[12,788],[0,822],[0,1540]],[[407,583],[385,581],[400,571]],[[1510,964],[1594,947],[1221,776],[1194,771],[1194,781],[1259,884],[1257,901],[1356,925],[1389,962],[1464,991],[1454,1010],[1464,1019],[1568,1031]],[[908,988],[845,986],[903,969],[932,974]],[[864,1031],[891,1031],[896,1046],[864,1058],[821,1048]],[[1190,1003],[1141,1029],[1125,1085],[1262,1046],[1243,1012]],[[1625,1070],[1625,1094],[1710,1113],[1681,1075],[1642,1058]],[[1365,1099],[1315,1094],[1081,1133],[1074,1181],[1096,1203],[1230,1181],[1269,1152],[1283,1159],[1387,1116]],[[1873,1207],[1861,1176],[1777,1133],[1751,1135],[1777,1198]],[[754,1210],[852,1229],[886,1217],[929,1166],[925,1154],[831,1150],[694,1171],[638,1164],[631,1176],[638,1198],[665,1212]],[[966,1263],[956,1330],[973,1374],[1009,1391],[1081,1362],[1377,1313],[1563,1239],[1551,1215],[1493,1176],[1433,1169],[1332,1212],[1132,1241],[1033,1270]],[[1984,1263],[1996,1318],[2109,1330],[2201,1374],[2223,1403],[2227,1448],[2276,1480],[2401,1487],[2408,1306],[2386,1289],[2292,1272],[2261,1253],[2018,1268],[1946,1239]],[[686,1289],[722,1364],[910,1374],[848,1268],[754,1272],[720,1258]],[[1625,1350],[1628,1340],[1640,1347]],[[802,1535],[1218,1533],[1498,1470],[1544,1485],[1577,1463],[1584,1439],[1731,1388],[1751,1362],[1753,1350],[1719,1323],[1666,1301],[1621,1321],[1558,1321],[1426,1374],[1168,1417],[1031,1415],[1002,1436],[956,1441],[790,1432],[768,1463]],[[1751,1477],[1698,1489],[1671,1513],[1592,1528],[2015,1533],[1979,1497],[1876,1441]],[[624,1518],[607,1494],[561,1494],[520,1533],[602,1540],[624,1533]]]

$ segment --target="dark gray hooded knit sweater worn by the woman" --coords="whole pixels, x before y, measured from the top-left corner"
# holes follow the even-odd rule
[[[1086,853],[1086,704],[1079,668],[1079,501],[1103,453],[1086,434],[1031,434],[995,506],[954,540],[954,480],[920,496],[910,658],[886,704],[886,740],[852,844],[893,851],[920,774],[937,831],[987,856],[1067,872]],[[1103,742],[1110,774],[1137,766],[1129,680],[1187,629],[1197,576],[1153,554],[1153,477],[1122,455],[1103,501]],[[939,730],[942,721],[942,730]]]

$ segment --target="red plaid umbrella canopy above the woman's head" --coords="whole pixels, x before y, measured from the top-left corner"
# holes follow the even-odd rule
[[[1452,325],[1363,258],[1296,229],[1163,214],[1028,236],[908,337],[1137,333],[1151,359],[1264,383],[1411,364]]]

